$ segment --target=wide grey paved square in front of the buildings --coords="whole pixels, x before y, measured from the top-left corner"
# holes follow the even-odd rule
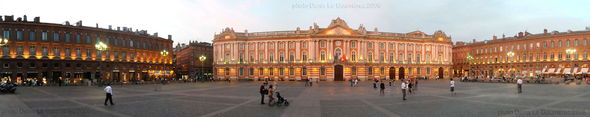
[[[0,116],[590,116],[585,83],[525,83],[518,93],[516,83],[456,82],[457,95],[450,95],[444,79],[419,82],[403,101],[401,82],[378,95],[372,81],[281,81],[276,91],[290,105],[273,107],[260,104],[261,83],[113,85],[116,105],[103,105],[104,87],[19,86],[0,94]]]

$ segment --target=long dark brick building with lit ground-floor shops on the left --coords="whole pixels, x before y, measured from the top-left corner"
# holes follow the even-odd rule
[[[19,81],[26,78],[51,79],[70,78],[71,82],[88,79],[149,81],[149,75],[163,72],[164,64],[171,64],[171,56],[160,55],[163,49],[170,50],[172,36],[160,38],[158,33],[133,31],[132,28],[112,29],[83,26],[82,21],[74,25],[40,22],[40,17],[28,21],[27,16],[0,17],[0,36],[8,39],[2,46],[2,77]],[[97,51],[98,42],[108,47]],[[100,72],[100,60],[103,72]],[[167,69],[172,66],[166,65]]]

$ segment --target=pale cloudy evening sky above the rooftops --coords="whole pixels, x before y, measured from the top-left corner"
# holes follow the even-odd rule
[[[26,3],[24,3],[26,2]],[[215,33],[233,28],[235,32],[295,31],[309,29],[316,22],[326,28],[340,17],[349,27],[360,24],[368,31],[427,35],[441,30],[453,41],[491,40],[493,35],[514,36],[528,31],[585,30],[590,26],[590,1],[217,1],[217,0],[103,0],[103,1],[15,1],[0,0],[0,15],[36,16],[41,22],[61,24],[83,21],[99,28],[128,27],[172,35],[175,44],[191,40],[212,43]],[[333,5],[333,7],[331,7]],[[360,6],[338,8],[338,6]],[[372,6],[369,8],[369,6]],[[362,7],[362,8],[361,8]]]

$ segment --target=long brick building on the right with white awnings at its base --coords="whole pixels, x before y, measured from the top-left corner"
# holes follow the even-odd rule
[[[525,31],[509,37],[502,35],[499,39],[493,36],[490,40],[467,45],[474,57],[471,73],[501,76],[514,72],[516,76],[549,76],[573,72],[588,75],[588,38],[590,27],[586,27],[585,31],[565,32],[548,32],[545,29],[542,34]],[[568,49],[576,49],[576,53],[570,57],[566,53]],[[509,52],[514,52],[514,56],[507,56]]]

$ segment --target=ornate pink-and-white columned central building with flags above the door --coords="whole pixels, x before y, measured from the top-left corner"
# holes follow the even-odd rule
[[[349,28],[340,18],[327,28],[309,30],[235,32],[216,34],[214,78],[314,78],[343,81],[348,78],[384,79],[451,76],[451,37]]]

